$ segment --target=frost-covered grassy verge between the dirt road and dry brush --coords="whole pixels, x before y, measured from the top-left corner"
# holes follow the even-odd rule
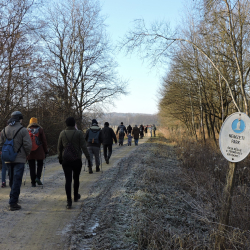
[[[178,165],[164,138],[121,159],[91,188],[70,249],[209,248],[211,228],[185,193]]]

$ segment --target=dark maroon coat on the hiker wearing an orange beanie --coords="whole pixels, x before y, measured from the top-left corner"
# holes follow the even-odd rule
[[[41,142],[41,145],[35,151],[30,152],[30,155],[28,156],[28,160],[44,160],[45,155],[48,153],[47,140],[46,140],[43,128],[37,123],[31,123],[29,124],[27,129],[29,131],[29,129],[33,129],[33,128],[36,129],[38,127],[39,127],[38,139]]]

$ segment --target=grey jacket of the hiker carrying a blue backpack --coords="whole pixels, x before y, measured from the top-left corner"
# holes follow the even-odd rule
[[[18,131],[19,128],[23,127],[20,122],[16,122],[13,126],[8,125],[5,127],[5,134],[8,139],[12,139],[15,135],[15,133]],[[3,144],[6,140],[6,137],[4,135],[4,130],[1,132],[0,137],[0,151],[2,151]],[[25,127],[23,127],[18,134],[16,135],[14,139],[14,151],[17,152],[20,148],[20,151],[18,152],[16,159],[14,163],[25,163],[26,158],[29,155],[31,148],[32,148],[32,142],[29,136],[29,133]]]

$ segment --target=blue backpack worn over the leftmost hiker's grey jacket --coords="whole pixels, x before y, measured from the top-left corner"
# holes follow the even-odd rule
[[[15,139],[17,133],[18,133],[22,128],[23,128],[23,127],[19,128],[19,129],[17,130],[17,132],[15,133],[15,135],[13,136],[12,139],[8,139],[8,138],[7,138],[6,133],[5,133],[5,128],[4,128],[3,133],[4,133],[4,136],[5,136],[5,138],[6,138],[6,141],[4,142],[3,147],[2,147],[2,159],[3,159],[4,161],[7,161],[7,162],[8,162],[8,161],[10,161],[10,162],[15,161],[17,154],[20,152],[20,149],[21,149],[21,147],[23,146],[23,143],[22,143],[22,145],[20,146],[20,148],[17,150],[17,152],[15,152],[15,150],[14,150],[14,139]]]

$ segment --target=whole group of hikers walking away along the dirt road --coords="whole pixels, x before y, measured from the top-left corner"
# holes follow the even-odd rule
[[[43,128],[39,125],[37,118],[32,117],[28,127],[22,126],[23,115],[20,111],[11,114],[7,126],[0,134],[0,154],[2,159],[2,188],[6,187],[6,172],[9,173],[10,199],[9,210],[15,211],[21,209],[18,204],[22,178],[26,162],[29,164],[31,186],[43,185],[41,176],[44,161],[48,155],[47,141]],[[82,153],[88,161],[88,172],[93,173],[93,158],[95,158],[96,172],[100,172],[101,145],[103,145],[104,159],[109,164],[112,155],[113,141],[117,144],[116,135],[119,135],[119,145],[122,146],[124,136],[128,136],[128,146],[131,146],[132,138],[135,145],[138,145],[139,137],[143,138],[144,133],[150,129],[151,136],[156,127],[137,125],[132,128],[130,125],[126,128],[123,123],[118,126],[116,134],[105,122],[101,129],[96,119],[92,120],[91,127],[85,135],[77,129],[74,117],[66,119],[66,128],[61,131],[58,139],[57,153],[59,163],[62,165],[65,175],[65,191],[67,196],[66,207],[72,207],[72,177],[73,200],[77,202],[81,195],[79,194],[79,177],[82,169]]]

